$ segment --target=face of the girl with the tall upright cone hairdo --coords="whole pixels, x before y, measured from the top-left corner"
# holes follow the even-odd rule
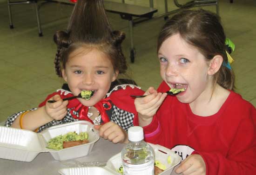
[[[97,49],[79,48],[70,54],[62,75],[75,96],[82,90],[94,91],[90,100],[77,98],[83,105],[93,106],[106,96],[118,71],[114,71],[110,59]]]

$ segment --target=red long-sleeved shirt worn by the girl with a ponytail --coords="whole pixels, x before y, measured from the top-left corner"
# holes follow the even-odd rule
[[[158,88],[168,90],[165,82]],[[137,116],[134,124],[138,125]],[[145,141],[176,151],[182,160],[200,154],[206,175],[256,175],[256,109],[233,91],[208,117],[193,114],[189,104],[168,96],[143,129]]]

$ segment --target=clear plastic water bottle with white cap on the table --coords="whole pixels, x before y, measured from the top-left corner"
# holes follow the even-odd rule
[[[143,129],[128,129],[129,143],[121,151],[123,175],[154,175],[154,150],[144,142]]]

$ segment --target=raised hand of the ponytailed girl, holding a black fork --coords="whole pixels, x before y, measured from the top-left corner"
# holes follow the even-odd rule
[[[157,92],[153,87],[149,87],[143,98],[135,99],[135,108],[139,115],[139,123],[146,126],[151,123],[153,116],[167,96],[167,93]]]

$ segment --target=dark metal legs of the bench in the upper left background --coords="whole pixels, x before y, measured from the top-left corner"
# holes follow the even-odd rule
[[[37,19],[37,26],[38,26],[38,33],[39,33],[40,37],[43,36],[43,33],[41,31],[41,26],[40,26],[40,16],[39,16],[39,13],[38,13],[37,0],[21,0],[21,1],[7,0],[8,11],[9,11],[9,20],[10,20],[10,28],[13,29],[11,6],[19,5],[19,4],[34,4],[36,19]]]

